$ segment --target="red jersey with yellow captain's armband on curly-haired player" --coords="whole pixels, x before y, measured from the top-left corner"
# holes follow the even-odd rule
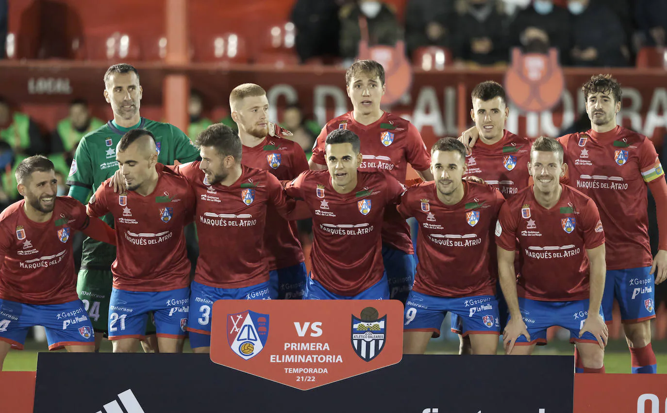
[[[664,179],[653,143],[616,127],[559,138],[569,184],[595,201],[604,224],[608,270],[650,266],[646,184]]]

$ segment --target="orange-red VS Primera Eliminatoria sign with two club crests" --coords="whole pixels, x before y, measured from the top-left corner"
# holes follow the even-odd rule
[[[300,390],[401,361],[396,300],[218,300],[211,360]]]

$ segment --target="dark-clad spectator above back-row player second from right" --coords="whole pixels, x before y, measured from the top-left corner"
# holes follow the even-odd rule
[[[476,65],[506,63],[510,58],[508,17],[495,0],[467,0],[457,17],[454,58]]]

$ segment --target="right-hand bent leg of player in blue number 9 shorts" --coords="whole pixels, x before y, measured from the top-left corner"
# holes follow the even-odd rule
[[[472,354],[496,354],[500,319],[498,300],[492,295],[452,298],[451,311],[462,322],[464,337],[470,338]]]

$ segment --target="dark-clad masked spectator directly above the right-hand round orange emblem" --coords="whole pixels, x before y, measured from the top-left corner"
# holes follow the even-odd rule
[[[534,0],[520,11],[510,25],[512,47],[522,47],[524,51],[536,41],[558,49],[560,63],[570,59],[570,13],[554,5],[552,0]]]

